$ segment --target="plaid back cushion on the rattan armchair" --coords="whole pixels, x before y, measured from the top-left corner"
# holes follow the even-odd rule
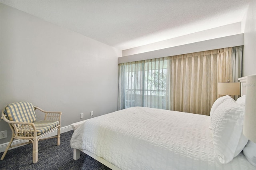
[[[4,113],[10,121],[30,123],[36,121],[36,113],[32,103],[17,102],[9,104],[5,107]]]

